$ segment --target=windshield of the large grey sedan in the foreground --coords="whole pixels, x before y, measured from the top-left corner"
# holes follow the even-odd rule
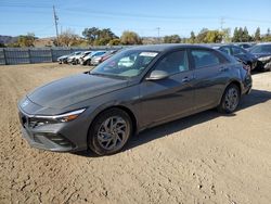
[[[146,68],[157,54],[158,52],[153,51],[125,50],[96,66],[90,74],[136,77]]]

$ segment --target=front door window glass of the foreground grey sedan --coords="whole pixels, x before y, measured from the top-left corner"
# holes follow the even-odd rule
[[[189,71],[189,60],[186,51],[176,51],[167,54],[155,66],[156,71],[167,72],[169,75]]]

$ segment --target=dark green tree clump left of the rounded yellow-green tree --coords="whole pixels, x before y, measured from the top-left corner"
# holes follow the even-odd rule
[[[109,28],[99,29],[96,27],[85,28],[82,36],[93,46],[106,46],[111,40],[118,38]]]

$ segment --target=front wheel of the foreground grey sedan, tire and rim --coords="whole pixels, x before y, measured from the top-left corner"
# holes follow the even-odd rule
[[[98,155],[119,152],[132,135],[130,116],[120,109],[111,109],[98,115],[90,127],[88,146]]]

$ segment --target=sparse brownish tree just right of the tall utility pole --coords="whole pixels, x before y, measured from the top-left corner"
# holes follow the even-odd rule
[[[78,35],[76,35],[72,29],[66,29],[59,36],[59,44],[57,46],[65,46],[70,47],[80,41]]]

